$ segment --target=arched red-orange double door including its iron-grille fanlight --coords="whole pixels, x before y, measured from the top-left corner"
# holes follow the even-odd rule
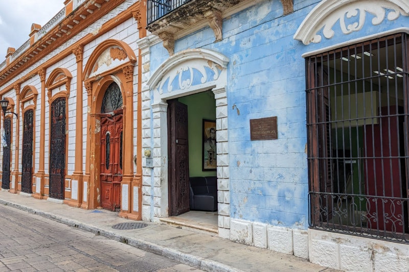
[[[123,100],[115,82],[105,91],[101,105],[101,207],[111,211],[121,208]]]

